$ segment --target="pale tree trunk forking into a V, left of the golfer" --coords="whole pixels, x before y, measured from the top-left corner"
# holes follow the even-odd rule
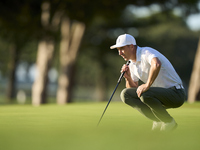
[[[74,64],[84,31],[83,23],[74,22],[70,26],[70,20],[66,17],[63,18],[61,22],[60,76],[57,90],[58,104],[71,102]]]

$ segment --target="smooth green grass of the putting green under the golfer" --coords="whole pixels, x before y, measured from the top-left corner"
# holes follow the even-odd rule
[[[122,102],[65,106],[0,106],[1,150],[198,150],[200,103],[169,113],[179,124],[169,133],[152,132],[152,122]]]

